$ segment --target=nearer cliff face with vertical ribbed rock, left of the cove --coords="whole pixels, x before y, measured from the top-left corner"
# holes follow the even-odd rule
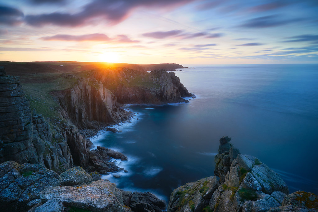
[[[81,78],[74,87],[51,94],[57,98],[63,118],[79,129],[92,127],[92,121],[114,124],[129,116],[119,108],[114,94],[96,80],[90,82]]]

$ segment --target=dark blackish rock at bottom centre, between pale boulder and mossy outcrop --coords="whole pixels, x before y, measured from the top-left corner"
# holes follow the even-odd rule
[[[134,212],[162,212],[166,209],[166,203],[150,192],[134,192],[131,196],[129,207]]]

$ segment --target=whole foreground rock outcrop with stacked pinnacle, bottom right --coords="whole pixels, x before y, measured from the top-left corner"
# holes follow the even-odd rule
[[[222,137],[214,173],[175,189],[168,211],[317,211],[318,196],[295,192],[258,158],[241,155]]]

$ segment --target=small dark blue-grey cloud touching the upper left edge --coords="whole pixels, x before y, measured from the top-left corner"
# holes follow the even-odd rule
[[[0,6],[0,24],[15,26],[22,23],[23,12],[18,9]]]

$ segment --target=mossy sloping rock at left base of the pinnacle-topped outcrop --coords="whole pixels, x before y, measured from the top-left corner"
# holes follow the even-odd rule
[[[168,211],[202,211],[218,187],[215,176],[186,183],[171,193]]]

